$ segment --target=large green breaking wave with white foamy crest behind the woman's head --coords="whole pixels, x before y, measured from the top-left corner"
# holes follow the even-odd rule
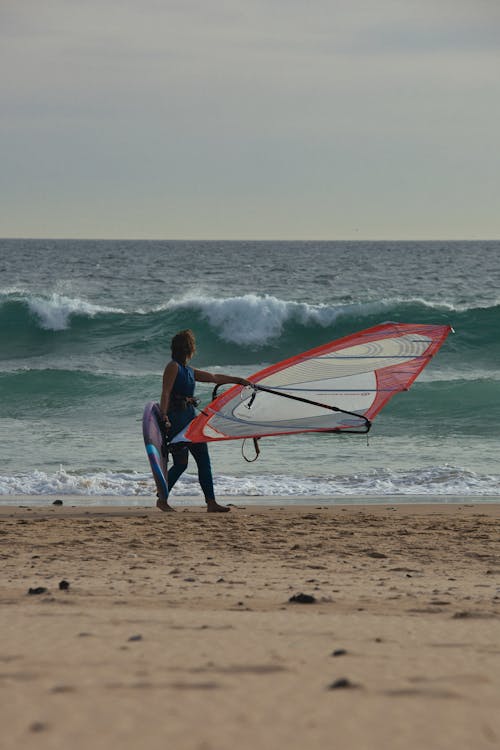
[[[229,361],[224,357],[229,347],[239,354],[248,348],[272,350],[279,359],[386,320],[447,323],[471,350],[487,345],[500,352],[500,304],[468,307],[418,298],[312,304],[268,294],[191,294],[162,306],[127,311],[58,294],[0,294],[4,359],[19,356],[21,350],[25,357],[64,350],[75,341],[89,349],[135,352],[141,357],[180,327],[195,330],[200,350],[214,363],[217,355]]]

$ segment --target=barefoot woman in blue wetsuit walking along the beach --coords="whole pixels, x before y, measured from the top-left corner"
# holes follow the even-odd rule
[[[163,387],[160,400],[161,416],[165,422],[168,439],[172,439],[196,416],[195,399],[193,398],[195,381],[201,383],[236,383],[248,385],[249,381],[231,375],[213,375],[204,370],[196,370],[188,365],[196,351],[194,334],[189,329],[176,333],[171,342],[172,359],[163,373]],[[205,495],[209,513],[227,513],[229,508],[219,505],[215,500],[212,468],[206,443],[180,444],[171,450],[173,466],[167,477],[168,490],[172,489],[188,465],[189,452],[192,453],[198,466],[198,479]],[[156,503],[160,510],[173,508],[166,500]]]

